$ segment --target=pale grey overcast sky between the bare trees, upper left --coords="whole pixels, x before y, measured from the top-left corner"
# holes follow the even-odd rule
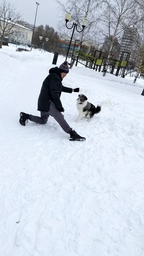
[[[40,5],[38,6],[36,16],[36,26],[48,24],[54,27],[54,29],[57,29],[60,12],[58,11],[56,0],[8,0],[8,2],[15,4],[17,10],[21,12],[22,18],[30,24],[34,24],[36,2],[38,2]]]

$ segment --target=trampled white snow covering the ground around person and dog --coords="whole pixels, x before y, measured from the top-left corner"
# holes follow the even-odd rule
[[[63,93],[86,136],[70,142],[52,117],[19,124],[20,111],[40,114],[53,54],[15,50],[0,50],[0,256],[144,256],[144,80],[73,67],[63,85],[102,111],[76,123],[78,94]]]

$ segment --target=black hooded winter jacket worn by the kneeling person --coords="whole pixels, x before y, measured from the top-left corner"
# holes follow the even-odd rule
[[[50,102],[53,101],[56,108],[62,107],[60,101],[61,92],[72,93],[72,88],[64,87],[62,85],[62,77],[58,67],[51,68],[49,75],[46,77],[42,84],[40,96],[38,98],[38,110],[48,112]]]

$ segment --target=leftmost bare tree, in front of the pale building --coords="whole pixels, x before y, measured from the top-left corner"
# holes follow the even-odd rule
[[[0,4],[0,48],[2,48],[4,37],[12,34],[12,28],[16,26],[20,18],[21,14],[17,12],[16,6],[3,0]],[[18,28],[18,30],[20,30],[20,28]]]

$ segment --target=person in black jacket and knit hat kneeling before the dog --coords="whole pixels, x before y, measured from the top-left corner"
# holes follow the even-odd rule
[[[58,124],[60,124],[64,132],[70,134],[70,140],[86,140],[86,138],[81,137],[72,130],[72,128],[70,128],[61,113],[64,112],[64,108],[60,101],[61,92],[79,92],[80,89],[72,89],[62,85],[62,80],[68,72],[69,67],[67,61],[62,63],[59,68],[55,67],[49,70],[49,75],[42,84],[40,96],[38,98],[38,110],[40,111],[40,117],[20,112],[20,124],[25,126],[28,120],[38,124],[46,124],[49,116],[51,115]]]

